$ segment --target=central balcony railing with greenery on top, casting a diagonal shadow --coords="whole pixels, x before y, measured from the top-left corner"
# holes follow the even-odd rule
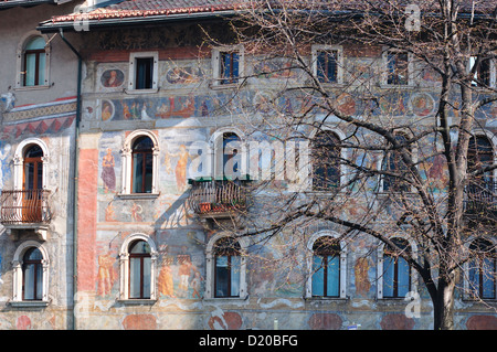
[[[246,191],[240,181],[193,181],[189,204],[202,216],[229,216],[245,209]]]

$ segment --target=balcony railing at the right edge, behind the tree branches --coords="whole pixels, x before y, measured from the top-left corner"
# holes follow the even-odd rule
[[[497,182],[475,182],[466,186],[464,210],[468,215],[497,217]]]

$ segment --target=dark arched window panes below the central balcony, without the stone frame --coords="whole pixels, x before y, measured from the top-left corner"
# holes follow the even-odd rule
[[[233,237],[214,245],[214,297],[240,297],[241,247]]]

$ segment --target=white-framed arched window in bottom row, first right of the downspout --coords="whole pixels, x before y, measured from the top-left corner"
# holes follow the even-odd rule
[[[145,234],[128,236],[119,252],[119,298],[155,300],[158,253],[154,241]]]

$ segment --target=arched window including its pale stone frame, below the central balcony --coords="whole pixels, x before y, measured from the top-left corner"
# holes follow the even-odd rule
[[[207,246],[205,298],[247,296],[246,239],[214,235]]]

